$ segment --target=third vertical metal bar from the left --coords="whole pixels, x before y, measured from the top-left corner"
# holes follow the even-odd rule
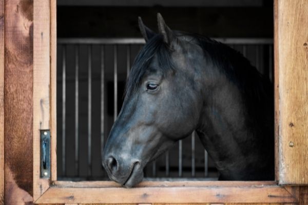
[[[88,46],[88,175],[91,176],[91,95],[92,95],[92,50],[91,45]]]

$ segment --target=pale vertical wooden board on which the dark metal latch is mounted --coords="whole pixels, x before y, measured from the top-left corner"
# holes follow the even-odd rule
[[[33,3],[33,198],[48,188],[40,177],[40,130],[50,129],[50,3]]]

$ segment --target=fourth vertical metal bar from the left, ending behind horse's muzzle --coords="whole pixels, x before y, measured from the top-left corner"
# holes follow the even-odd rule
[[[101,46],[101,159],[103,159],[103,149],[104,149],[104,116],[105,116],[105,107],[104,107],[104,100],[105,100],[105,53],[104,53],[104,46]]]

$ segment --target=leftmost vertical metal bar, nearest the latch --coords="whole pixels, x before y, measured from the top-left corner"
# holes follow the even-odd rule
[[[62,48],[62,175],[65,176],[66,46]]]

